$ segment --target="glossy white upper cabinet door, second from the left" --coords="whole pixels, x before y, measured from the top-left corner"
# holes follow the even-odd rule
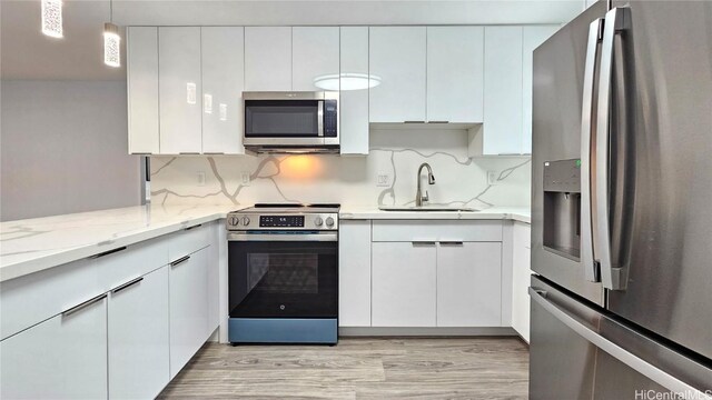
[[[158,28],[160,152],[201,152],[200,28]]]

